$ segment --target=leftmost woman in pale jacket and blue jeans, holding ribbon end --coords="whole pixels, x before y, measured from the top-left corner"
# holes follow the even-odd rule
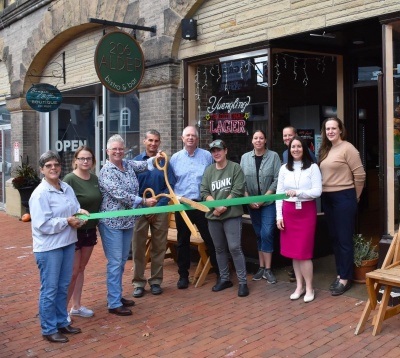
[[[64,334],[80,333],[68,322],[67,296],[71,281],[77,229],[89,215],[81,209],[73,189],[62,182],[60,156],[53,151],[41,155],[43,180],[29,199],[33,252],[40,273],[39,319],[42,335],[50,342],[65,343]]]

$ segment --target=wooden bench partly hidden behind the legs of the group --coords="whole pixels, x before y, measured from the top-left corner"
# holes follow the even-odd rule
[[[176,254],[175,254],[176,244],[177,244],[177,230],[175,223],[175,214],[169,213],[169,229],[167,237],[166,257],[172,257],[176,260]],[[149,231],[149,237],[146,243],[146,264],[150,261],[150,245],[151,245],[151,235]],[[207,254],[206,244],[201,238],[200,233],[198,233],[198,237],[191,235],[190,245],[197,247],[197,251],[200,256],[199,262],[196,266],[196,271],[192,279],[192,283],[195,285],[195,287],[200,287],[203,285],[212,266],[210,258]]]

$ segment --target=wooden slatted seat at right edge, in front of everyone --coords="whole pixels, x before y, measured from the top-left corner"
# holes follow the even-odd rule
[[[392,287],[400,287],[400,242],[398,233],[394,236],[386,254],[382,268],[366,274],[368,301],[361,315],[355,334],[364,332],[365,325],[372,310],[377,307],[378,292],[382,285],[385,286],[378,313],[372,319],[372,335],[376,336],[382,329],[383,321],[400,313],[400,304],[388,307]]]

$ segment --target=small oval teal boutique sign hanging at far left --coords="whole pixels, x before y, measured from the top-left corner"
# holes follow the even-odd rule
[[[35,111],[51,112],[60,107],[62,102],[62,94],[53,85],[48,83],[38,83],[26,93],[26,102]]]

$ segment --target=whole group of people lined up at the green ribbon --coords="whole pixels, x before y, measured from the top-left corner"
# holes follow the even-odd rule
[[[48,151],[39,160],[43,174],[41,184],[30,199],[33,251],[40,272],[39,318],[43,337],[51,342],[67,342],[66,334],[80,333],[71,326],[71,316],[93,316],[93,310],[81,305],[84,271],[96,245],[96,227],[107,259],[107,304],[109,313],[132,314],[134,301],[122,296],[122,276],[132,249],[134,261],[133,296],[145,294],[150,286],[160,295],[163,262],[167,244],[168,214],[105,217],[82,220],[75,214],[89,216],[94,212],[127,210],[167,205],[168,186],[177,196],[193,201],[285,193],[287,199],[256,202],[248,205],[257,236],[260,267],[253,280],[276,283],[271,270],[274,231],[281,236],[281,254],[293,259],[297,281],[290,299],[304,295],[314,300],[312,286],[313,247],[316,226],[315,199],[321,195],[329,230],[334,238],[337,275],[331,284],[332,295],[350,288],[352,278],[352,234],[357,201],[365,172],[357,150],[345,141],[341,120],[330,118],[323,123],[319,163],[316,164],[306,142],[293,132],[284,140],[287,160],[267,148],[264,131],[253,133],[253,150],[243,154],[240,164],[228,160],[223,140],[209,144],[209,150],[198,147],[199,135],[193,126],[183,130],[183,149],[169,162],[167,178],[154,170],[155,161],[165,165],[166,155],[159,150],[161,136],[157,130],[145,133],[145,150],[133,160],[125,160],[125,143],[113,135],[107,142],[108,160],[97,177],[93,151],[82,146],[74,154],[73,171],[60,180],[61,160]],[[285,158],[285,155],[284,155]],[[321,175],[322,174],[322,175]],[[166,183],[166,180],[169,183]],[[168,185],[167,185],[168,184]],[[153,192],[146,191],[151,188]],[[155,196],[158,196],[157,199]],[[229,255],[235,266],[238,296],[249,295],[245,257],[241,248],[242,205],[217,206],[208,213],[186,211],[204,240],[217,280],[212,291],[233,286],[229,272]],[[189,287],[191,232],[179,212],[177,227],[178,289]],[[151,267],[146,278],[146,242],[151,232]],[[350,239],[350,241],[349,241]],[[349,265],[351,258],[351,265]],[[68,313],[67,306],[71,301]]]

